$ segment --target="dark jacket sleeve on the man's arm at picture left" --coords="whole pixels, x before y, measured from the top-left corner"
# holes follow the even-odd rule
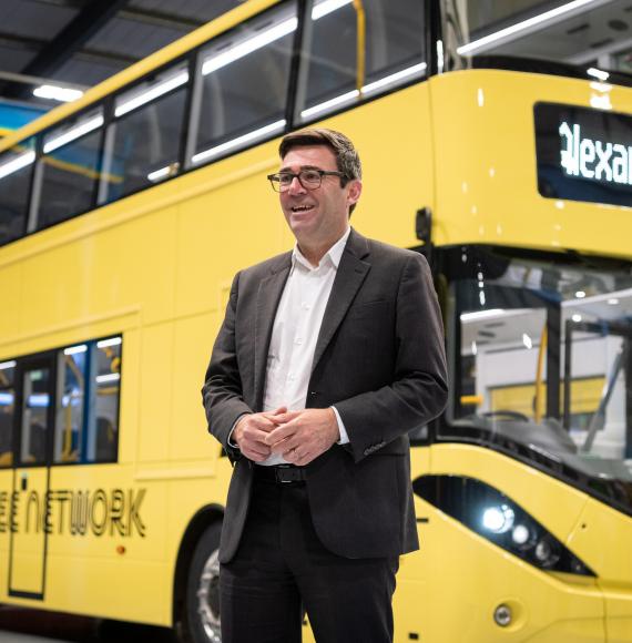
[[[222,443],[233,461],[241,457],[241,452],[228,442],[231,431],[241,416],[253,412],[243,399],[235,346],[238,286],[239,273],[233,279],[224,323],[215,339],[202,387],[208,431]]]

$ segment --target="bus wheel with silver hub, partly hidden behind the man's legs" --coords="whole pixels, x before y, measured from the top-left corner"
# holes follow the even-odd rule
[[[222,643],[220,630],[220,532],[205,530],[193,553],[186,581],[186,633],[193,643]]]

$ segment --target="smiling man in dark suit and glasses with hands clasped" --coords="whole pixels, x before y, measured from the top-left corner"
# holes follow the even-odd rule
[[[398,557],[418,548],[407,432],[447,399],[439,307],[424,257],[349,228],[345,135],[288,134],[279,155],[296,246],[235,277],[202,389],[235,465],[223,641],[300,641],[303,605],[319,643],[384,643]]]

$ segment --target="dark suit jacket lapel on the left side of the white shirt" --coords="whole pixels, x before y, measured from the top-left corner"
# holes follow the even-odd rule
[[[262,279],[257,292],[257,307],[255,317],[255,400],[256,410],[263,409],[265,371],[267,354],[272,338],[272,329],[276,309],[289,275],[292,253],[279,258],[279,263],[272,268],[271,275]]]

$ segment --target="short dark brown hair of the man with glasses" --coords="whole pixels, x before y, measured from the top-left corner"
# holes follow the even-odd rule
[[[283,160],[294,147],[305,147],[308,145],[325,145],[334,152],[338,172],[344,174],[344,176],[340,177],[340,185],[343,187],[345,187],[349,181],[363,177],[363,165],[357,150],[345,134],[336,132],[335,130],[326,130],[323,127],[290,132],[281,140],[278,155]],[[349,216],[355,207],[355,203],[349,206]]]

